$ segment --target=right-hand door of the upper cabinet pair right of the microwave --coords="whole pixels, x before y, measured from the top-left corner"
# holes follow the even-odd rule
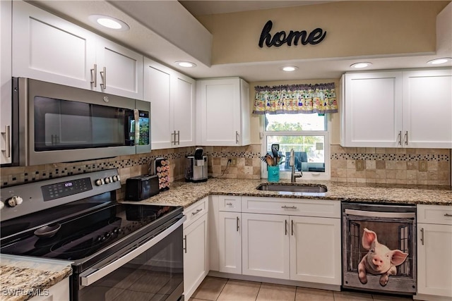
[[[196,82],[179,73],[173,73],[172,111],[174,130],[177,133],[177,147],[195,145],[195,90]]]

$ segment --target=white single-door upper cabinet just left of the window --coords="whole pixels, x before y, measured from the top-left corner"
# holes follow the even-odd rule
[[[196,91],[198,145],[251,143],[247,82],[240,78],[198,80]]]

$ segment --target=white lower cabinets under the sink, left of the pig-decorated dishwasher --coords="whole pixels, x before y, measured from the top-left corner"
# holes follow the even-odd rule
[[[339,201],[219,196],[218,204],[218,271],[340,285]]]

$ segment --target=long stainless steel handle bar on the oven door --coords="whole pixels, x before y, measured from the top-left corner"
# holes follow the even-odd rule
[[[182,226],[184,224],[184,221],[186,220],[186,216],[183,216],[182,219],[179,219],[176,223],[174,223],[172,226],[169,226],[165,231],[160,233],[159,235],[155,236],[155,238],[152,238],[148,242],[145,242],[144,245],[141,245],[140,247],[137,247],[135,250],[125,254],[123,257],[120,257],[119,259],[115,260],[114,262],[107,264],[106,266],[102,266],[99,269],[90,269],[87,271],[87,274],[81,274],[81,285],[88,286],[96,281],[98,281],[100,278],[107,276],[108,274],[112,273],[112,271],[119,269],[121,266],[126,264],[127,262],[130,262],[133,258],[139,256],[141,253],[145,252],[146,250],[150,249],[150,247],[153,247],[158,242],[166,238],[169,234],[171,234],[174,230],[179,228],[179,226]]]

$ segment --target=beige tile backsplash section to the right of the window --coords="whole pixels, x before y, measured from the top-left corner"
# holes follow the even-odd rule
[[[356,183],[450,185],[450,160],[450,149],[331,145],[331,180]],[[357,168],[357,164],[361,166]]]

